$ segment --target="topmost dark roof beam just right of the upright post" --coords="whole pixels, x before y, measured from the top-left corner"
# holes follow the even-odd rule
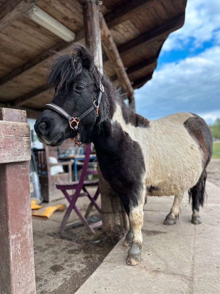
[[[162,0],[130,0],[126,5],[116,7],[113,11],[105,14],[105,21],[108,24],[108,28],[113,28],[116,25],[127,21],[133,13],[138,13],[140,10],[150,9],[156,6]]]

